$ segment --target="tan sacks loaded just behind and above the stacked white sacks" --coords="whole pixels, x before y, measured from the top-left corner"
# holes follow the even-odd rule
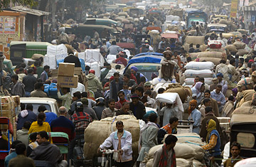
[[[200,52],[196,58],[197,62],[213,62],[215,65],[220,64],[220,60],[227,60],[227,55],[221,52]]]

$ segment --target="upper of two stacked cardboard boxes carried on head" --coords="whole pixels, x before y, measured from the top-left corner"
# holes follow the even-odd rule
[[[73,77],[75,73],[75,63],[59,63],[58,75]]]

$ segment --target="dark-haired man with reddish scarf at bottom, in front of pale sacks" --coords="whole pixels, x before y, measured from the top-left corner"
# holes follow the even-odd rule
[[[164,145],[154,153],[153,167],[176,167],[176,156],[174,152],[176,141],[178,141],[178,139],[174,135],[170,134],[166,137],[164,140]]]

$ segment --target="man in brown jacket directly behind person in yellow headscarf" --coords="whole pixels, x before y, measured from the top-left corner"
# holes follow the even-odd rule
[[[216,122],[216,129],[221,136],[220,122],[218,121],[218,118],[215,117],[215,115],[213,114],[212,107],[206,107],[206,117],[201,122],[201,130],[199,133],[199,135],[201,136],[201,138],[203,138],[204,141],[206,141],[207,136],[206,122],[209,119],[213,119]]]

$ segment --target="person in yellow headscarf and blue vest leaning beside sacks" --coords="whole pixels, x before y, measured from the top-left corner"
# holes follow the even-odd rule
[[[214,156],[215,162],[220,165],[222,156],[220,151],[220,134],[216,130],[216,122],[213,119],[209,119],[208,122],[206,122],[206,130],[207,130],[207,136],[206,136],[206,145],[202,146],[204,150],[208,150],[210,152],[211,156]],[[218,158],[218,159],[216,159]]]

